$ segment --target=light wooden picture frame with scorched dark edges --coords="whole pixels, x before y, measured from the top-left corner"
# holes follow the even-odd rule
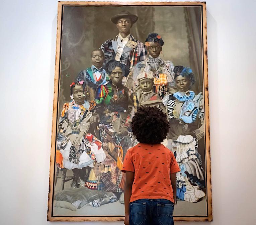
[[[201,50],[200,52],[193,51],[196,43],[196,39],[192,44],[189,44],[188,50],[191,51],[191,55],[200,55],[201,69],[197,69],[197,72],[201,70],[202,75],[202,92],[204,96],[204,155],[202,157],[205,160],[205,215],[174,215],[175,221],[212,221],[212,198],[211,198],[211,169],[210,169],[210,138],[209,138],[209,103],[208,103],[208,71],[207,71],[207,39],[206,39],[206,3],[205,2],[58,2],[58,22],[57,22],[57,42],[56,42],[56,63],[55,63],[55,83],[54,83],[54,102],[53,102],[53,123],[52,123],[52,141],[51,141],[51,159],[50,159],[50,180],[49,180],[49,198],[48,198],[48,221],[123,221],[123,215],[56,215],[54,214],[54,194],[55,194],[55,182],[60,176],[56,175],[56,146],[57,146],[57,133],[58,133],[58,120],[60,116],[60,98],[61,98],[61,71],[63,55],[63,35],[67,35],[63,30],[63,20],[65,19],[64,9],[65,7],[199,7],[200,11],[200,38],[201,38]],[[128,9],[126,8],[126,10]],[[109,20],[109,18],[106,18]],[[188,25],[188,30],[193,30],[193,25]],[[189,31],[188,31],[189,32]],[[104,36],[104,34],[102,33]],[[189,34],[187,34],[189,35]],[[114,36],[114,35],[113,35]],[[110,37],[104,37],[108,39]],[[144,43],[144,40],[141,40]],[[191,50],[192,49],[192,50]],[[88,53],[89,54],[89,53]],[[79,57],[79,55],[78,55]],[[88,56],[89,57],[89,56]],[[171,60],[171,59],[170,59]],[[198,61],[198,60],[197,60]],[[198,63],[199,65],[199,63]],[[66,73],[66,72],[65,72]],[[76,76],[69,75],[67,76]],[[200,75],[198,75],[200,76]],[[69,91],[69,87],[66,87],[66,92]],[[61,173],[59,171],[59,173]],[[64,175],[63,175],[64,176]],[[65,174],[66,176],[66,174]],[[63,183],[65,184],[65,182]],[[177,203],[179,204],[179,202]],[[193,204],[193,203],[192,203]]]

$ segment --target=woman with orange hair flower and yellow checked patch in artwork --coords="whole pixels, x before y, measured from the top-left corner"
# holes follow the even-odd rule
[[[164,41],[157,33],[150,33],[146,39],[148,58],[138,63],[133,68],[133,88],[139,86],[137,77],[142,72],[152,71],[154,73],[154,92],[157,93],[161,99],[168,93],[175,92],[173,63],[171,61],[162,60],[159,55],[162,51]]]

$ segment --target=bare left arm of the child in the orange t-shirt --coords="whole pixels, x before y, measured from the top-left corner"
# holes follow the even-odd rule
[[[126,171],[125,172],[125,184],[124,184],[124,211],[125,211],[124,222],[126,222],[126,223],[129,222],[130,199],[132,196],[133,182],[134,182],[134,172]],[[126,223],[124,223],[124,224],[126,224]],[[127,223],[127,224],[129,224],[129,223]]]

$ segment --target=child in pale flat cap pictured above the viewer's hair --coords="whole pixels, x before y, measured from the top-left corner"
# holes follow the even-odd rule
[[[142,106],[156,106],[163,109],[166,113],[165,106],[162,103],[158,94],[153,92],[154,75],[152,71],[142,72],[138,75],[140,89],[134,95],[134,110],[137,110]]]

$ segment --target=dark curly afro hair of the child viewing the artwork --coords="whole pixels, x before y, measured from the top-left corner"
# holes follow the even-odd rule
[[[132,119],[132,131],[140,143],[161,143],[169,127],[166,114],[156,106],[141,107]]]

